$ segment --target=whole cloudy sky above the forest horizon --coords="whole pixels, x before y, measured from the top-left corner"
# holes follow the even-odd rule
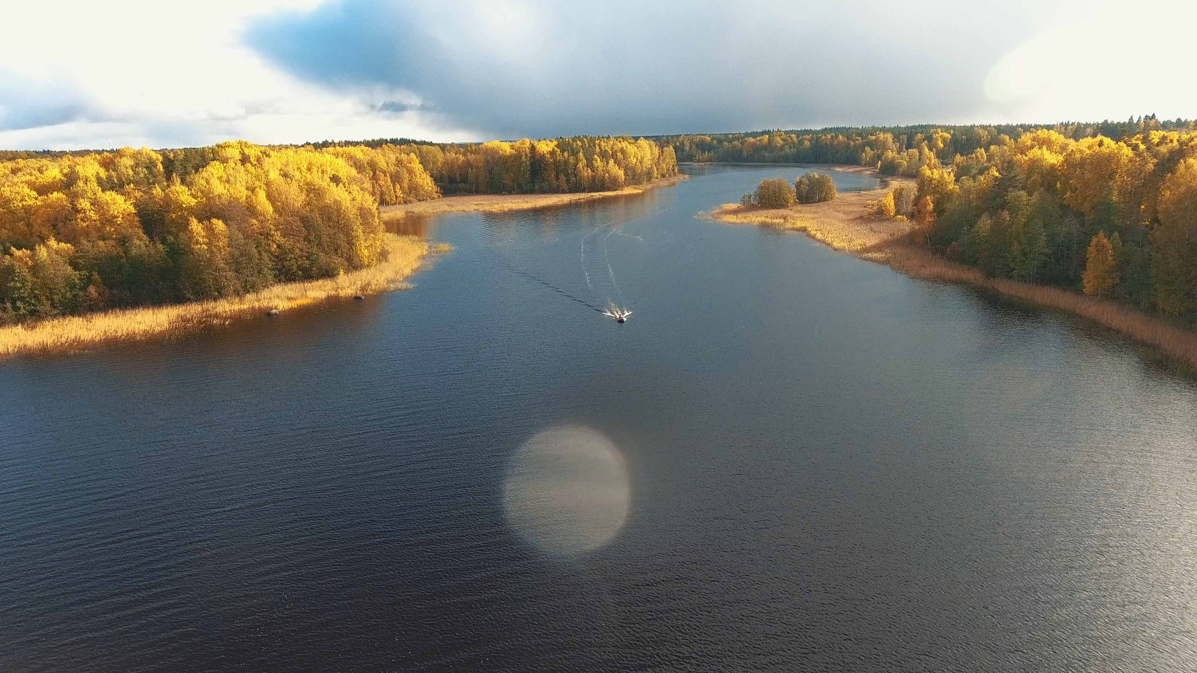
[[[43,0],[0,148],[1197,116],[1197,4]]]

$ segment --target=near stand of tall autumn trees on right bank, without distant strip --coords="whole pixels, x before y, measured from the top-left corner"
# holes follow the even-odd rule
[[[1003,137],[923,166],[891,213],[994,277],[1197,320],[1197,132]]]

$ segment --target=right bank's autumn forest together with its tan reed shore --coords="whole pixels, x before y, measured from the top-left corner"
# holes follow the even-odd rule
[[[912,275],[1077,313],[1197,368],[1192,122],[895,131],[674,143],[681,157],[721,160],[855,154],[846,163],[895,183],[868,201],[788,208],[772,199],[772,210],[748,202],[715,216],[803,229]]]

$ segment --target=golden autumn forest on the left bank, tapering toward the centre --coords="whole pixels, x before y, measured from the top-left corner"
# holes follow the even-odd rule
[[[229,297],[378,261],[379,205],[619,189],[678,172],[630,138],[0,153],[0,323]]]

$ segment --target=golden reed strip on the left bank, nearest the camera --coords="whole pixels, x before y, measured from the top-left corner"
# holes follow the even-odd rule
[[[385,257],[378,263],[333,278],[280,283],[223,299],[113,309],[0,327],[0,359],[71,353],[89,346],[190,334],[235,320],[265,319],[271,309],[281,313],[327,299],[397,290],[430,255],[442,251],[440,245],[430,247],[414,236],[394,234],[384,235],[383,248]]]

